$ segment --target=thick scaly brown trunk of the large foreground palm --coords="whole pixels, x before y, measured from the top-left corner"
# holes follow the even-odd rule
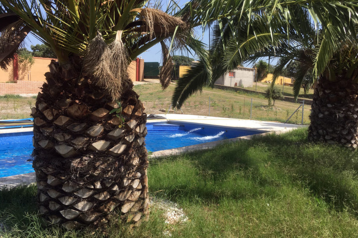
[[[127,83],[122,112],[110,114],[118,104],[74,62],[70,74],[51,62],[32,110],[40,212],[66,229],[103,226],[110,215],[137,226],[149,201],[144,107]]]

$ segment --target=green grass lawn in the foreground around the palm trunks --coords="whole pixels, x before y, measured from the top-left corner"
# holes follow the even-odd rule
[[[189,220],[169,226],[152,208],[132,232],[45,228],[34,186],[0,192],[0,237],[357,237],[358,152],[313,144],[305,129],[150,162],[151,196],[176,202]]]

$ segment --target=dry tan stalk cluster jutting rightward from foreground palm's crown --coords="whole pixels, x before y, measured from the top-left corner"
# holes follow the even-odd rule
[[[146,31],[151,38],[167,36],[175,31],[176,26],[180,30],[188,29],[189,25],[180,17],[171,16],[164,11],[154,8],[143,8],[137,10],[146,24]]]

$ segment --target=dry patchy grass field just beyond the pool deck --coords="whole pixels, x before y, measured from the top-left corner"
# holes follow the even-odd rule
[[[140,95],[149,113],[166,113],[171,104],[175,85],[162,90],[159,83],[136,85],[134,90]],[[274,107],[267,106],[267,99],[261,95],[248,95],[241,92],[226,91],[216,88],[204,88],[197,92],[183,105],[185,114],[208,116],[210,97],[210,116],[250,119],[252,98],[252,119],[285,122],[299,106],[298,103],[276,101]],[[0,97],[0,119],[20,119],[30,117],[31,107],[35,105],[33,97]],[[304,108],[304,124],[309,123],[311,107]],[[163,112],[164,111],[164,112]],[[180,110],[176,113],[181,113]],[[301,123],[300,109],[289,123]]]

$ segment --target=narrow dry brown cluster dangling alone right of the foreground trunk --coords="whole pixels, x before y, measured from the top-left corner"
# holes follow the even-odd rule
[[[161,52],[163,55],[163,66],[161,67],[159,73],[159,81],[161,83],[161,87],[165,89],[169,86],[170,81],[172,79],[171,72],[173,71],[174,64],[173,60],[171,59],[171,56],[169,55],[168,47],[163,41],[160,41],[160,45]]]

